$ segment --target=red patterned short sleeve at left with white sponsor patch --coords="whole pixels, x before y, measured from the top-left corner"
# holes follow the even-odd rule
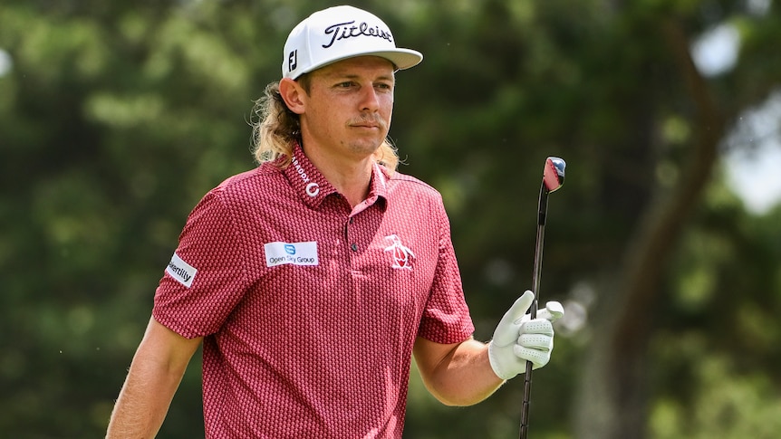
[[[196,205],[155,292],[155,320],[186,338],[217,332],[246,291],[234,215],[219,188]]]

